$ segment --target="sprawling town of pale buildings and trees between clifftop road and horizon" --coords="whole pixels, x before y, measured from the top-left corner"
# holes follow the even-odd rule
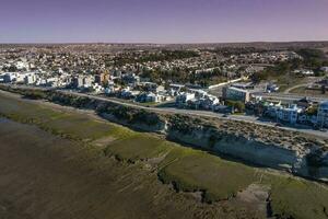
[[[328,61],[317,48],[2,45],[0,83],[328,128]]]

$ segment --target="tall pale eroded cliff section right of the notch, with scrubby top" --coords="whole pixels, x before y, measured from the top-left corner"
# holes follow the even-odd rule
[[[186,119],[186,118],[183,118]],[[256,135],[253,128],[249,131],[226,129],[226,124],[215,126],[215,122],[194,123],[186,119],[188,124],[168,124],[166,134],[171,139],[175,139],[194,147],[199,147],[218,154],[225,154],[243,160],[256,165],[263,165],[273,169],[284,170],[304,177],[312,177],[328,182],[328,151],[327,141],[300,137],[298,134],[280,134],[281,140],[277,141],[273,131],[263,130],[261,135]],[[171,119],[172,122],[172,119]],[[175,122],[177,123],[177,122]],[[238,122],[230,126],[236,126]],[[212,125],[212,126],[211,126]],[[258,125],[250,125],[258,126]],[[251,131],[254,130],[254,131]],[[283,130],[281,130],[283,131]],[[289,136],[291,135],[291,136]]]

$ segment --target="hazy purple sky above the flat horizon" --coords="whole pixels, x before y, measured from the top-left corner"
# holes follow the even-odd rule
[[[328,0],[0,0],[0,43],[328,41]]]

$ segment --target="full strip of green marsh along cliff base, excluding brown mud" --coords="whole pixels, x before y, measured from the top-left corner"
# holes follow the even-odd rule
[[[328,217],[327,187],[316,183],[225,161],[154,135],[139,134],[82,114],[59,112],[3,94],[0,99],[0,113],[14,120],[37,124],[51,132],[89,142],[108,136],[115,138],[104,152],[119,160],[142,162],[162,158],[155,170],[163,182],[173,183],[178,191],[202,191],[208,201],[235,197],[251,183],[260,183],[271,187],[273,214],[285,218]]]

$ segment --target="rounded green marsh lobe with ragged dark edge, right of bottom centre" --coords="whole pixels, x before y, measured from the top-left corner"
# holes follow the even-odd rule
[[[208,203],[232,198],[257,180],[250,168],[191,150],[163,168],[159,175],[178,191],[202,191]]]

